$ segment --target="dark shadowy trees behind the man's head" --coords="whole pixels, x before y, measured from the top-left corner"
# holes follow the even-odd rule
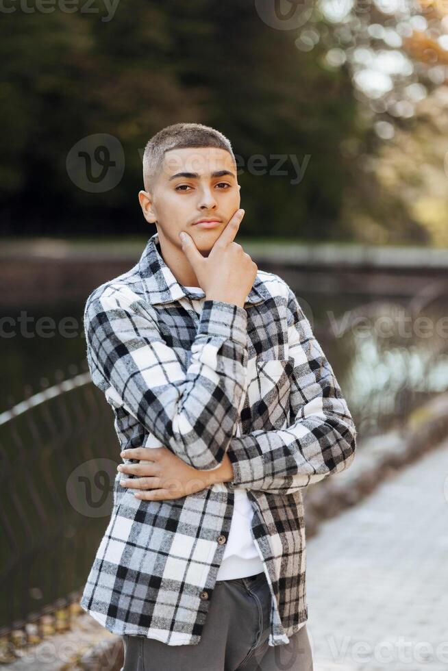
[[[3,233],[140,233],[142,149],[162,127],[196,121],[221,130],[242,159],[245,235],[337,238],[340,144],[355,132],[356,103],[347,73],[321,66],[319,45],[299,51],[297,30],[265,25],[247,0],[120,0],[110,21],[103,3],[92,7],[98,14],[81,2],[71,14],[16,5],[2,16]],[[99,194],[66,170],[73,144],[97,133],[125,153],[118,186]],[[266,174],[248,170],[254,155]],[[308,161],[299,183],[291,155]]]

